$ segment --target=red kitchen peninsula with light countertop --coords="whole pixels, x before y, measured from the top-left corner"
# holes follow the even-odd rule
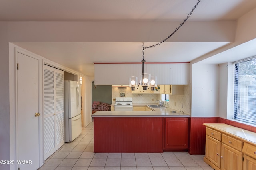
[[[97,111],[94,118],[94,152],[163,152],[188,149],[190,115],[158,111]],[[168,118],[168,119],[166,119]],[[170,119],[172,126],[166,126]],[[174,128],[172,130],[166,130]],[[168,137],[168,133],[172,136]],[[171,144],[171,146],[170,146]]]

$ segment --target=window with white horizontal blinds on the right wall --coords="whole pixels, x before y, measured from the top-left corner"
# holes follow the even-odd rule
[[[256,58],[235,64],[234,119],[256,124]]]

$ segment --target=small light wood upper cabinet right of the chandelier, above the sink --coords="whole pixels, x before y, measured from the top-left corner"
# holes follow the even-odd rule
[[[160,85],[160,93],[170,95],[183,95],[184,85]]]

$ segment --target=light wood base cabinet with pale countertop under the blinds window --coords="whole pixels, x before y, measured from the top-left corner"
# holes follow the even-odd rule
[[[256,133],[222,123],[204,125],[204,162],[215,170],[256,170]]]

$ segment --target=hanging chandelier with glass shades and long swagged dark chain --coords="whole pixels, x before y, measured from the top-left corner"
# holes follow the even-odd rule
[[[140,83],[137,86],[138,77],[136,77],[136,76],[129,77],[129,87],[131,87],[132,91],[134,91],[135,89],[138,89],[140,85],[143,87],[143,90],[146,90],[146,89],[155,90],[155,87],[157,86],[157,77],[156,76],[151,76],[151,74],[148,74],[148,73],[144,73],[144,63],[146,62],[144,60],[144,50],[147,49],[147,48],[156,47],[156,45],[160,45],[162,42],[165,42],[168,38],[170,38],[176,31],[178,31],[180,29],[180,27],[183,26],[183,24],[186,22],[186,20],[191,16],[192,12],[196,9],[196,6],[199,4],[200,1],[201,0],[198,0],[198,2],[194,6],[194,8],[192,8],[191,12],[188,14],[188,16],[185,18],[185,20],[166,39],[162,40],[161,42],[159,42],[155,45],[148,46],[148,47],[145,47],[144,43],[143,43],[143,49],[142,49],[143,59],[141,61],[142,62],[141,80],[140,80]]]

